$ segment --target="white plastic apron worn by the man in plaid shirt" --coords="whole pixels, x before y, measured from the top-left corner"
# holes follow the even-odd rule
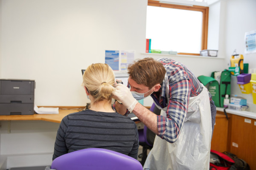
[[[168,85],[168,80],[167,83]],[[169,85],[166,88],[169,90]],[[169,91],[166,93],[169,98]],[[159,108],[159,106],[157,106]],[[166,116],[162,108],[161,115]],[[176,142],[156,136],[144,170],[209,170],[212,118],[207,88],[189,98],[188,112]]]

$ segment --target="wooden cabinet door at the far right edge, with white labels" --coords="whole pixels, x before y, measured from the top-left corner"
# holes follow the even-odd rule
[[[232,115],[230,152],[256,170],[256,120]]]

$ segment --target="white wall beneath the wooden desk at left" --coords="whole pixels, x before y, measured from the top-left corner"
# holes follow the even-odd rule
[[[1,121],[0,123],[0,157],[7,159],[6,168],[51,164],[58,123],[45,121]]]

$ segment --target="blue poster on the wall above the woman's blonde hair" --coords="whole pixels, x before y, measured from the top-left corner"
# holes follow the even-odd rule
[[[119,71],[119,51],[105,50],[105,63],[108,64],[113,71]]]

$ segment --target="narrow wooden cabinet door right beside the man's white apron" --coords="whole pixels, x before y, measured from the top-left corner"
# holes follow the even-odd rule
[[[227,151],[228,120],[224,114],[218,113],[212,135],[211,149],[219,152]]]

